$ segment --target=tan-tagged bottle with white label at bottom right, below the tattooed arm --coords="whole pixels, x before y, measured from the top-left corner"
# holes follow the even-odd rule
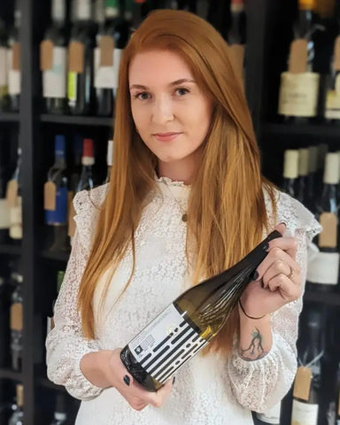
[[[308,312],[305,347],[299,352],[293,390],[291,425],[317,425],[321,398],[321,313]]]

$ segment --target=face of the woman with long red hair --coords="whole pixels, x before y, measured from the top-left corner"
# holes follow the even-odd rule
[[[158,166],[192,169],[213,107],[189,66],[172,51],[146,51],[133,58],[128,80],[135,128]]]

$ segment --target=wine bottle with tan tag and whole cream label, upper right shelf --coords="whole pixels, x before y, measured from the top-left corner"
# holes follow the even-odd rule
[[[281,74],[279,114],[296,122],[305,122],[317,115],[320,74],[313,70],[314,5],[315,0],[298,0],[288,71]]]

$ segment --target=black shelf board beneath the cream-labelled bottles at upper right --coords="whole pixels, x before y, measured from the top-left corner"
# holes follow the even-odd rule
[[[261,126],[263,136],[283,135],[291,136],[313,136],[330,137],[332,139],[340,138],[340,126],[332,124],[279,124],[265,123]]]

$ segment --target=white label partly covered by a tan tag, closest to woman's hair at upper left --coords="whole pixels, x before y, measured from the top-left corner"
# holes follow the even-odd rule
[[[113,66],[100,66],[100,49],[95,49],[95,87],[96,89],[117,89],[120,69],[121,49],[114,49]]]

